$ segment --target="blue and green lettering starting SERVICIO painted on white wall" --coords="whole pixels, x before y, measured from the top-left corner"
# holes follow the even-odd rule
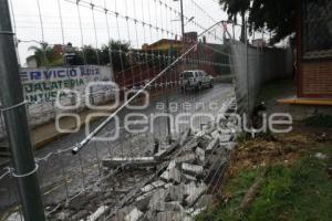
[[[84,65],[75,67],[22,69],[20,77],[28,102],[50,102],[64,88],[84,93],[90,82],[113,81],[108,66]]]

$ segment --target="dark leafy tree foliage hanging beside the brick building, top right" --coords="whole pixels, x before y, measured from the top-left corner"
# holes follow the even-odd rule
[[[220,4],[230,18],[240,13],[243,19],[248,13],[250,30],[267,29],[273,33],[273,43],[295,32],[294,0],[220,0]]]

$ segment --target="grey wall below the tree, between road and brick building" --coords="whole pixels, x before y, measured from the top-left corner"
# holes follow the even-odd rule
[[[253,48],[231,43],[231,67],[236,75],[238,108],[251,113],[262,84],[292,75],[290,49]]]

